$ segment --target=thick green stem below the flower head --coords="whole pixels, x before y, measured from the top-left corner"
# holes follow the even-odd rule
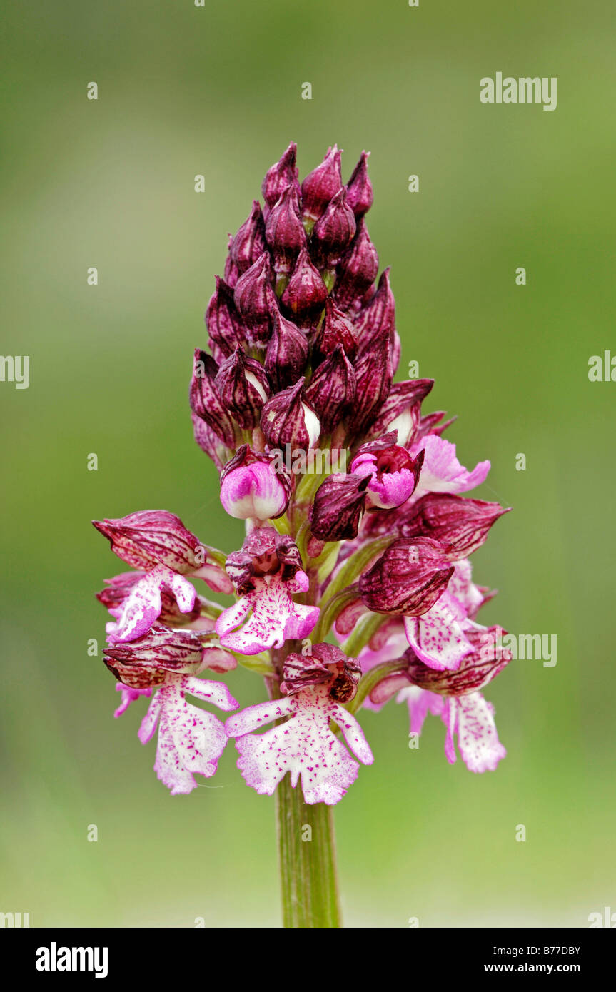
[[[339,928],[333,810],[308,806],[287,775],[276,790],[278,849],[287,929]]]

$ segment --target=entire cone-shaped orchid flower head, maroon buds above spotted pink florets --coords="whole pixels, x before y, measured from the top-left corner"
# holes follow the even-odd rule
[[[139,738],[158,727],[155,771],[173,795],[213,776],[233,740],[257,793],[290,773],[306,803],[335,804],[373,761],[354,714],[392,696],[415,733],[441,718],[449,762],[456,740],[473,772],[505,755],[482,689],[510,656],[501,628],[477,623],[493,593],[469,562],[505,511],[461,495],[490,463],[468,471],[442,436],[451,422],[422,412],[431,379],[393,382],[367,165],[364,152],[344,186],[334,146],[300,184],[291,144],[216,277],[189,399],[222,506],[246,522],[241,548],[224,555],[165,510],[94,523],[133,569],[98,593],[115,715],[148,698]],[[238,664],[268,689],[241,712],[211,678]]]

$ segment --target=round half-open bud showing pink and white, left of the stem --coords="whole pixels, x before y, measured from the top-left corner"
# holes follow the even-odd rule
[[[291,496],[289,476],[278,472],[269,454],[242,444],[220,476],[220,502],[239,520],[281,517]]]

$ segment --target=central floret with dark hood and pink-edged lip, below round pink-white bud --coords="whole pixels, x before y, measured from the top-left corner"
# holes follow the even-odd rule
[[[216,621],[224,648],[256,655],[281,648],[286,640],[308,637],[319,610],[291,598],[293,593],[308,589],[308,575],[291,538],[271,527],[251,531],[242,551],[229,555],[226,568],[240,599]],[[248,622],[237,630],[251,610]]]

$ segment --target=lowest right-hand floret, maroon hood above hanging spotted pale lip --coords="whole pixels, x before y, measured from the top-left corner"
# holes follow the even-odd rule
[[[429,712],[440,716],[446,728],[447,761],[455,762],[453,738],[457,734],[458,750],[469,771],[495,771],[507,752],[498,739],[494,707],[479,689],[511,660],[511,654],[500,647],[502,633],[500,627],[473,631],[473,651],[456,672],[434,672],[410,650],[406,667],[379,682],[371,700],[382,704],[398,693],[398,701],[409,705],[411,731],[416,734],[421,733]]]

